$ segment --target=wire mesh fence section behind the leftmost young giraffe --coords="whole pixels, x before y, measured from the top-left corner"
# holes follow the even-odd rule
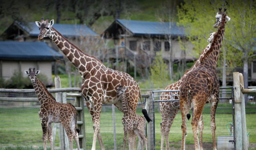
[[[53,97],[57,92],[51,93]],[[74,101],[74,98],[67,98],[67,102],[73,104]],[[35,92],[0,91],[0,147],[26,146],[28,149],[43,149],[43,131],[38,115],[40,107]],[[76,148],[76,144],[73,145]],[[47,146],[50,146],[49,142]],[[59,149],[58,130],[55,149]]]

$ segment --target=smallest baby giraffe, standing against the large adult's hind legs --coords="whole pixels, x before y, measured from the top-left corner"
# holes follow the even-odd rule
[[[144,148],[144,143],[146,146],[146,150],[148,149],[148,139],[144,133],[145,131],[145,118],[143,118],[140,115],[137,115],[136,112],[134,112],[128,105],[127,97],[125,95],[127,87],[123,87],[122,85],[120,87],[117,87],[117,93],[116,97],[121,96],[122,105],[123,105],[123,131],[124,131],[124,137],[123,137],[123,150],[125,150],[126,145],[126,138],[127,138],[127,131],[129,132],[128,135],[128,142],[129,142],[129,150],[133,150],[134,143],[133,140],[134,137],[132,134],[132,131],[135,132],[137,137],[139,138],[141,148]],[[134,135],[135,136],[135,135]]]

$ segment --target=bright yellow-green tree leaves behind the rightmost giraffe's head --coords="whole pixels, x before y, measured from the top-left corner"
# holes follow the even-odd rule
[[[222,47],[226,48],[227,61],[248,59],[253,54],[256,37],[256,1],[228,0],[224,4],[221,0],[184,0],[185,4],[178,8],[179,25],[185,26],[189,40],[195,48],[195,56],[200,54],[207,45],[210,33],[216,32],[213,28],[218,8],[227,8],[226,14],[231,18],[226,23]],[[222,4],[222,5],[220,5]],[[240,5],[242,4],[242,5]],[[222,55],[220,55],[222,57]],[[241,65],[241,63],[238,65]]]

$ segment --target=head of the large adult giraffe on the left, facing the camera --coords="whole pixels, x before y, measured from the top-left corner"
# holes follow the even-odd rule
[[[44,21],[44,18],[41,18],[41,22],[36,21],[36,25],[39,27],[40,33],[38,35],[38,40],[44,39],[44,37],[47,37],[51,33],[51,27],[54,23],[54,20],[52,19],[49,22],[49,17]]]

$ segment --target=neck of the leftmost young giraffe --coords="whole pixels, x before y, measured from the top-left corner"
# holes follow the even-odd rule
[[[39,79],[37,79],[37,77],[35,78],[34,83],[32,84],[37,94],[38,101],[41,105],[45,103],[47,100],[49,100],[49,98],[56,101],[56,99],[51,95],[51,93],[47,90],[44,84]]]

